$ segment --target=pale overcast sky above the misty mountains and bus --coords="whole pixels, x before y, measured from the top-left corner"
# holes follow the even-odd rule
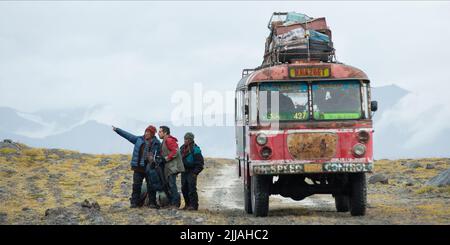
[[[234,90],[261,63],[274,11],[326,17],[338,60],[413,92],[405,120],[436,104],[450,120],[449,2],[2,1],[0,106],[168,120],[174,91]]]

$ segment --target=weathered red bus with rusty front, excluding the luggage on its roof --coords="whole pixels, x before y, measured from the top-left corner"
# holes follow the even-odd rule
[[[245,69],[235,98],[245,211],[267,216],[271,194],[332,194],[338,212],[364,215],[376,110],[367,75],[349,65],[296,60]]]

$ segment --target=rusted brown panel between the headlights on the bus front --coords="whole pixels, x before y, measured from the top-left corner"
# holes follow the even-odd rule
[[[294,159],[328,159],[336,154],[334,133],[295,133],[287,136],[288,151]]]

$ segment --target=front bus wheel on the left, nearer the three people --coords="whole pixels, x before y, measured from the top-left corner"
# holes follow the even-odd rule
[[[251,207],[253,215],[265,217],[269,213],[269,187],[272,176],[254,175],[251,177]]]

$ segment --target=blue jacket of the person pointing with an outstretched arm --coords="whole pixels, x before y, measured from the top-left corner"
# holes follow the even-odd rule
[[[161,142],[156,138],[156,136],[153,136],[150,142],[147,142],[144,139],[144,136],[136,136],[120,128],[116,128],[116,133],[134,144],[133,155],[131,156],[130,162],[131,168],[144,168],[147,153],[151,153],[153,156],[155,156],[155,154],[160,154]],[[139,158],[139,151],[142,145],[144,145],[144,150],[141,157]]]

